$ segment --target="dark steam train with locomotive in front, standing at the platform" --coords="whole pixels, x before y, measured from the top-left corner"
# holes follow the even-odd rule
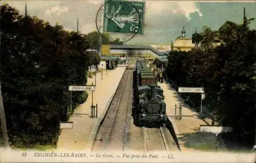
[[[157,85],[156,76],[145,62],[136,63],[135,86],[137,107],[133,115],[137,124],[166,122],[163,90]]]

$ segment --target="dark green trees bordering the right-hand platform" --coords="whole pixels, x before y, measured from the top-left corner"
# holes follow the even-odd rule
[[[233,127],[235,138],[250,145],[256,118],[256,31],[248,27],[251,20],[227,21],[218,31],[205,27],[193,35],[193,42],[201,46],[188,52],[171,51],[166,68],[177,86],[204,87],[207,109],[220,125]],[[189,96],[196,96],[199,104],[201,95]]]

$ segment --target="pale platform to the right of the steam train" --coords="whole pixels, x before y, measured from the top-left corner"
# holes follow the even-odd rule
[[[159,83],[163,89],[163,94],[165,96],[166,103],[166,114],[170,122],[172,122],[177,139],[181,148],[181,152],[203,152],[202,150],[197,150],[196,146],[203,145],[203,139],[205,137],[204,133],[200,133],[200,125],[210,125],[210,119],[200,119],[199,114],[195,112],[188,104],[184,103],[184,99],[179,96],[174,88],[170,86],[169,83]],[[182,118],[175,119],[175,104],[182,106]],[[177,115],[179,115],[177,109]],[[207,138],[208,139],[208,138]],[[209,142],[215,143],[215,135],[209,134]],[[212,139],[212,140],[211,140]],[[219,138],[219,150],[227,151],[224,143]],[[194,146],[195,148],[189,148],[189,146]]]

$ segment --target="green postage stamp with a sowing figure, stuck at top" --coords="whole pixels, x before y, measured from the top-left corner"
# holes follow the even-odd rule
[[[143,34],[145,2],[105,0],[103,32]]]

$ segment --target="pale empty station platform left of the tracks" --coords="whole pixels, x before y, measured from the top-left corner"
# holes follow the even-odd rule
[[[114,70],[108,70],[108,72],[103,70],[103,73],[97,73],[96,87],[93,92],[93,104],[98,104],[98,118],[103,114],[105,105],[115,93],[125,68],[126,67],[117,67]],[[92,78],[88,77],[87,85],[92,85],[92,83],[95,83],[95,76]],[[79,110],[78,114],[70,117],[69,121],[73,122],[73,128],[61,130],[57,150],[78,151],[86,149],[91,133],[97,122],[97,118],[93,119],[90,117],[91,104],[92,92],[88,92],[87,101],[76,108],[76,110]]]

